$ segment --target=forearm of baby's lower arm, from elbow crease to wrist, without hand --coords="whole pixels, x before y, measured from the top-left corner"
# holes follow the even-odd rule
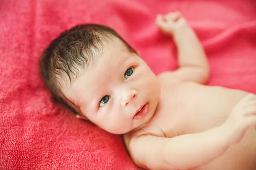
[[[165,162],[178,170],[201,167],[221,156],[228,148],[221,127],[169,139],[163,146]]]

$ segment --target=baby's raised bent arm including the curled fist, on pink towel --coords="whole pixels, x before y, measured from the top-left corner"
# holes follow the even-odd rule
[[[179,12],[157,16],[157,26],[172,35],[178,51],[179,68],[174,75],[182,81],[204,84],[209,78],[207,57],[198,37]]]

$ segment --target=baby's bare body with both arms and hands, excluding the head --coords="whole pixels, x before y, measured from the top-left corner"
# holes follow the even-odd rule
[[[180,68],[185,69],[158,76],[161,93],[154,116],[124,135],[131,158],[138,166],[154,170],[255,170],[256,96],[202,85],[208,77],[207,61],[191,28],[179,13],[158,17],[157,24],[173,35]],[[239,122],[247,119],[239,117],[247,108],[254,115],[253,120],[248,118],[252,123]],[[248,130],[249,124],[253,127]]]

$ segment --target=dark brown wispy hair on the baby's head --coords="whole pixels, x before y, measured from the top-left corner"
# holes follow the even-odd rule
[[[102,51],[107,37],[117,37],[128,50],[134,49],[112,28],[97,24],[75,26],[61,33],[41,55],[39,65],[41,75],[52,96],[57,102],[64,104],[71,111],[75,109],[61,92],[61,79],[70,84],[91,64],[93,57]]]

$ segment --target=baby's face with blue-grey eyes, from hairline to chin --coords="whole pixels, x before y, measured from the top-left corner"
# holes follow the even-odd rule
[[[84,72],[62,91],[95,125],[124,134],[151,119],[160,98],[160,82],[119,39],[113,38]]]

